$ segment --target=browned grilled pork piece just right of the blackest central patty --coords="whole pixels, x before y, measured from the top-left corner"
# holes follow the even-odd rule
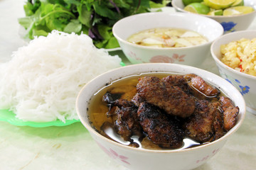
[[[209,103],[209,101],[206,100],[197,101],[196,103],[195,113],[191,115],[184,124],[185,132],[186,135],[193,140],[208,142],[215,134],[213,124],[220,103]]]

